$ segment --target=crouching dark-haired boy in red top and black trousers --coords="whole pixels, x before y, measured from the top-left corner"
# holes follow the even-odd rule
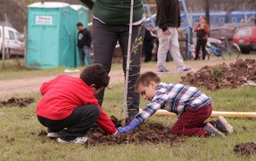
[[[48,128],[48,137],[58,142],[84,144],[84,136],[94,123],[104,131],[116,133],[116,127],[104,113],[94,95],[108,86],[110,77],[102,64],[87,66],[80,78],[59,75],[40,87],[36,114]]]

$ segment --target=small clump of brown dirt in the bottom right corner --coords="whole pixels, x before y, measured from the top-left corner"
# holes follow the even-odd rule
[[[234,147],[234,152],[244,156],[251,156],[256,154],[256,144],[254,142],[238,144]]]

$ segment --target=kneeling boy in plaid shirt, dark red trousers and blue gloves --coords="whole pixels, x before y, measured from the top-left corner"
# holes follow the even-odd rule
[[[150,103],[126,127],[119,127],[118,133],[132,131],[160,108],[178,115],[177,122],[170,130],[178,136],[225,138],[225,134],[234,131],[223,116],[205,122],[212,113],[211,100],[195,87],[167,84],[161,82],[154,72],[145,72],[137,79],[135,89]]]

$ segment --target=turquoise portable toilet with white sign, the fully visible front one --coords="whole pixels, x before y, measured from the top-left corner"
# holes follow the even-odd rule
[[[28,8],[27,66],[75,67],[75,11],[69,4],[57,2]]]

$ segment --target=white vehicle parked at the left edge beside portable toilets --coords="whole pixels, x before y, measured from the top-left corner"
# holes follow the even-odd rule
[[[4,35],[4,38],[3,38]],[[3,39],[5,40],[3,43]],[[13,55],[24,55],[24,43],[20,33],[12,27],[0,26],[0,54],[5,48],[5,58],[8,59]]]

